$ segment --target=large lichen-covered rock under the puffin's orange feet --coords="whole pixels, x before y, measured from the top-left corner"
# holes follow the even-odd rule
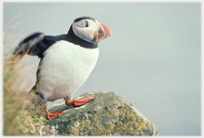
[[[51,113],[63,114],[46,124],[55,126],[59,135],[70,136],[157,136],[153,123],[140,113],[130,102],[115,92],[91,91],[76,99],[96,98],[80,107],[55,105]]]

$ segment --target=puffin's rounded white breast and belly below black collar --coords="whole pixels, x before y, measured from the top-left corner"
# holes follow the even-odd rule
[[[44,52],[37,89],[46,100],[54,101],[74,93],[96,65],[99,49],[59,41]]]

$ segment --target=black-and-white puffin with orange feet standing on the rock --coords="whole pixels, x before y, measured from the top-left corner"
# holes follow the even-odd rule
[[[73,94],[87,80],[99,56],[98,43],[112,34],[107,26],[89,16],[76,18],[67,34],[57,36],[35,32],[25,37],[13,54],[40,58],[36,83],[29,91],[47,101],[64,99],[65,104],[81,106],[95,99],[73,100]],[[50,113],[47,119],[62,115]]]

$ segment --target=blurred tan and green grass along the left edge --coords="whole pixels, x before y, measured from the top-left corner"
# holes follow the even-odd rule
[[[35,116],[25,110],[26,100],[22,100],[20,93],[26,86],[22,75],[33,68],[22,69],[23,62],[20,57],[12,55],[12,47],[17,45],[13,39],[18,25],[7,24],[4,26],[3,44],[3,135],[39,135],[37,126],[42,126],[46,119]],[[23,60],[23,59],[20,59]],[[28,83],[28,82],[27,82]],[[33,114],[34,116],[31,116]]]

